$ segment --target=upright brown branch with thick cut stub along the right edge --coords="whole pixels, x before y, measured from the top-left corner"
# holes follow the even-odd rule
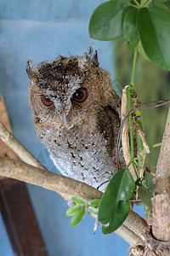
[[[161,149],[154,177],[155,197],[152,199],[152,233],[157,240],[170,241],[170,108],[161,141]]]

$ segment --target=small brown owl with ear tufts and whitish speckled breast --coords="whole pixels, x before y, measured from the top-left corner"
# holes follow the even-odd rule
[[[121,99],[97,51],[27,62],[28,102],[37,137],[63,175],[97,188],[116,172]],[[105,185],[100,188],[105,190]]]

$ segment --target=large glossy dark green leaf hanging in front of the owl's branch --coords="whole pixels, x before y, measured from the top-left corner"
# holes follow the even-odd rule
[[[102,227],[104,234],[118,229],[127,218],[130,211],[128,201],[133,198],[134,189],[133,177],[127,169],[116,172],[111,178],[99,206],[99,221],[102,224],[110,224]]]

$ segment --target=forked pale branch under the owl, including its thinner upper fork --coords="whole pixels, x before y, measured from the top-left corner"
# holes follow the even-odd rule
[[[0,158],[0,175],[53,190],[63,196],[66,201],[71,200],[71,197],[75,195],[82,198],[83,201],[91,201],[94,198],[102,197],[102,192],[88,186],[86,183],[48,172],[2,123],[0,123],[0,138],[20,156],[21,160],[27,163]],[[136,212],[131,211],[124,224],[115,233],[131,246],[136,243],[142,244],[140,237],[147,227],[145,220]]]

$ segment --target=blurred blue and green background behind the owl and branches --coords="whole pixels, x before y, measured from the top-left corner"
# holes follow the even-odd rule
[[[46,148],[35,136],[27,104],[26,61],[35,64],[58,55],[83,55],[92,46],[98,50],[100,66],[111,73],[114,87],[130,81],[132,52],[121,39],[101,42],[89,38],[88,21],[101,0],[0,0],[0,90],[8,110],[14,136],[51,172],[59,173]],[[136,85],[139,99],[168,99],[170,76],[139,55]],[[149,145],[161,142],[167,107],[144,111],[144,132]],[[156,165],[153,149],[148,166]],[[94,218],[70,228],[66,201],[52,192],[27,184],[42,238],[49,256],[127,255],[127,242],[116,234],[93,235]],[[135,207],[143,216],[143,207]],[[0,256],[14,256],[0,212]]]

